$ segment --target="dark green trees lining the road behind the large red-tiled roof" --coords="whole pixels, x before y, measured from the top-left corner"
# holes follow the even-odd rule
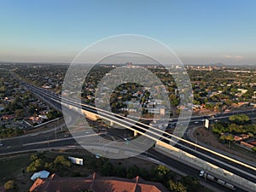
[[[95,162],[95,164],[93,163]],[[113,165],[108,159],[101,158],[91,162],[90,166],[99,166],[102,175],[115,177],[143,177],[143,179],[162,183],[167,189],[173,192],[198,192],[207,191],[195,177],[180,177],[166,166],[153,166],[149,171],[136,165],[125,168],[121,163]]]

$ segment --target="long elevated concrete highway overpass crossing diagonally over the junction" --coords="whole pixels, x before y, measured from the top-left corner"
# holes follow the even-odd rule
[[[249,165],[241,160],[234,160],[224,154],[191,143],[160,129],[144,125],[133,119],[128,119],[102,109],[93,108],[84,103],[81,105],[75,100],[61,97],[48,90],[33,86],[32,84],[25,85],[38,96],[45,97],[46,100],[55,105],[55,107],[61,108],[62,103],[62,105],[67,108],[84,113],[84,115],[90,119],[101,118],[108,120],[112,125],[113,123],[121,125],[134,131],[135,135],[139,133],[150,138],[156,143],[156,148],[160,148],[168,154],[172,154],[172,156],[177,157],[179,160],[187,161],[189,164],[196,166],[199,169],[213,172],[219,177],[224,177],[233,183],[244,186],[249,191],[256,191],[256,167],[253,163]],[[176,144],[172,146],[170,143]],[[197,150],[195,150],[195,148],[197,148]]]

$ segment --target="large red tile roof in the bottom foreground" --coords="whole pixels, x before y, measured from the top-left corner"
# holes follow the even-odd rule
[[[141,177],[133,179],[121,177],[100,177],[93,173],[89,177],[59,177],[56,174],[46,179],[38,178],[31,192],[73,192],[89,189],[93,192],[167,192],[160,183],[147,182]]]

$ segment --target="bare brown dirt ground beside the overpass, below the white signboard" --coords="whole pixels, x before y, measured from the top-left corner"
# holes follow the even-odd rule
[[[204,127],[197,128],[194,131],[193,136],[196,137],[197,133],[199,133],[198,141],[201,143],[205,143],[209,146],[212,146],[213,148],[218,148],[230,154],[235,154],[236,156],[241,157],[243,159],[256,162],[256,155],[253,154],[253,152],[250,152],[245,148],[241,148],[237,146],[235,143],[232,143],[230,145],[230,148],[228,144],[219,143],[218,137],[213,135],[212,131],[208,131]]]

